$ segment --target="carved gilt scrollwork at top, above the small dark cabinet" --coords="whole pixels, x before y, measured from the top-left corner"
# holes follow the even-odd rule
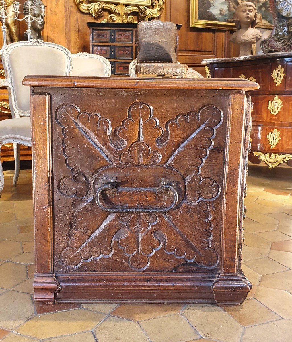
[[[156,18],[162,13],[165,5],[165,0],[151,0],[149,5],[148,3],[146,5],[114,4],[111,1],[97,0],[74,1],[81,12],[90,13],[93,17],[102,17],[104,10],[110,12],[108,18],[102,20],[102,22],[107,23],[137,23],[133,14],[137,15],[138,22]],[[121,0],[121,2],[123,1]]]

